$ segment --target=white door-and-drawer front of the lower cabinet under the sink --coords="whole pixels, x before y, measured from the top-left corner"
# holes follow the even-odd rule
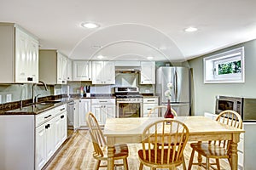
[[[67,139],[67,107],[61,105],[41,113],[50,120],[36,127],[35,169],[42,169],[49,158]],[[41,117],[40,115],[38,115]],[[37,122],[37,117],[36,117]],[[40,122],[38,122],[40,124]]]

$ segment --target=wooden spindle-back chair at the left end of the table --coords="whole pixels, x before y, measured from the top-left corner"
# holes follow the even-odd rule
[[[103,136],[102,129],[99,126],[96,117],[88,112],[86,114],[86,122],[89,126],[89,132],[91,141],[94,147],[93,157],[97,160],[96,170],[101,166],[101,161],[108,161],[108,147],[106,146],[106,140]],[[115,164],[115,166],[124,166],[128,170],[127,157],[128,157],[128,146],[127,144],[117,144],[114,146],[114,160],[123,160],[123,164]]]

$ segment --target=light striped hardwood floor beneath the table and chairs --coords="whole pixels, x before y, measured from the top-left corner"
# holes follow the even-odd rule
[[[87,130],[79,130],[75,133],[68,131],[70,136],[67,141],[62,144],[58,153],[44,166],[44,170],[94,170],[96,164],[95,159],[92,157],[93,147],[90,142],[90,135]],[[128,144],[129,145],[129,169],[139,169],[139,160],[137,158],[137,150],[141,148],[141,144]],[[186,165],[189,165],[191,149],[189,144],[187,145],[184,156]],[[197,157],[195,156],[195,159]],[[102,162],[107,163],[107,162]],[[220,161],[221,169],[229,170],[230,165],[225,161]],[[100,168],[107,169],[107,168]],[[116,167],[117,170],[123,169],[123,167]],[[148,167],[144,167],[144,170],[149,170]],[[183,169],[182,166],[177,169]],[[203,167],[192,166],[193,170],[201,170]]]

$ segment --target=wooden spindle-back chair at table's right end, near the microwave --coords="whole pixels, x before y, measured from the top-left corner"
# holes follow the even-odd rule
[[[236,111],[222,111],[217,117],[217,122],[222,122],[224,124],[230,125],[236,128],[242,128],[242,120],[241,116]],[[216,165],[219,170],[219,161],[218,159],[227,158],[231,163],[230,159],[230,142],[226,140],[220,141],[209,141],[208,143],[191,143],[192,152],[189,160],[189,169],[191,169],[193,165],[202,165],[206,167],[206,169],[210,169],[212,165]],[[201,156],[206,157],[205,163],[193,163],[193,158],[195,151],[198,152]],[[215,163],[210,163],[210,158],[215,159]],[[213,167],[212,167],[213,168]]]

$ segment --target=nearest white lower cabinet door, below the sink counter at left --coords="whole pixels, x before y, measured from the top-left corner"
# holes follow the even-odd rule
[[[36,128],[35,169],[41,169],[46,163],[46,125]]]

